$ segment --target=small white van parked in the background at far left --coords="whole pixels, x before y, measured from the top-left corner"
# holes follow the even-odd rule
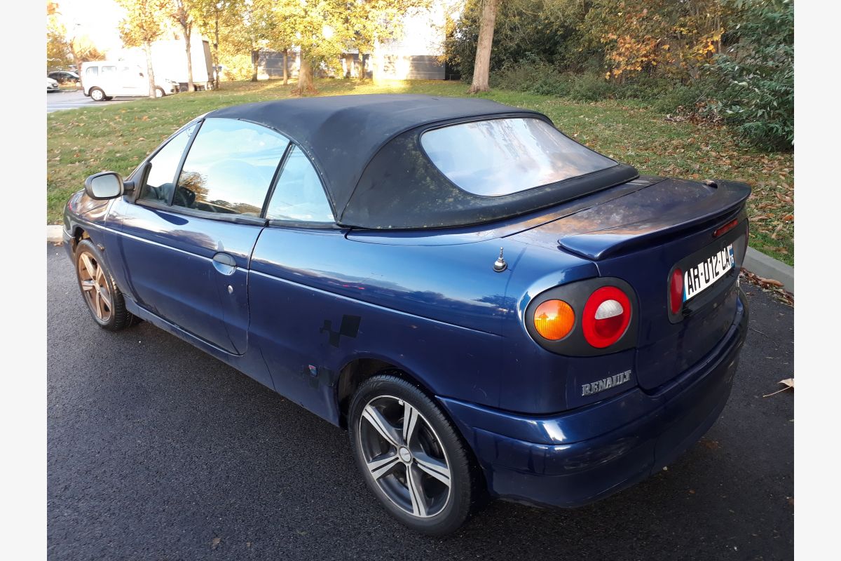
[[[177,93],[178,84],[163,77],[155,77],[155,93],[162,98]],[[82,92],[93,101],[107,101],[117,97],[145,97],[149,95],[146,70],[130,62],[82,62]]]

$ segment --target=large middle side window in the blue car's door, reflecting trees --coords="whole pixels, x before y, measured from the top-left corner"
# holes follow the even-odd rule
[[[289,140],[258,124],[206,119],[184,161],[172,204],[259,216]]]

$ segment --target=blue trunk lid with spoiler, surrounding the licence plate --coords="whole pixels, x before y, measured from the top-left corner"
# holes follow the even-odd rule
[[[601,277],[621,278],[639,302],[636,373],[653,390],[704,357],[733,321],[739,268],[747,247],[744,183],[701,183],[641,177],[647,187],[595,204],[516,234],[518,241],[560,249],[595,262]],[[717,230],[736,220],[726,233]],[[733,246],[733,267],[726,268]],[[714,282],[716,259],[721,278]],[[708,258],[711,261],[708,261]],[[683,311],[669,310],[669,278],[675,267],[704,263],[711,275]],[[709,268],[712,267],[712,268]]]

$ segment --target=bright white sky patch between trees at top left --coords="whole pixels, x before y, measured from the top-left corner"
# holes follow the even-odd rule
[[[114,0],[57,0],[57,3],[61,23],[69,36],[77,29],[78,34],[89,36],[102,51],[119,49],[123,45],[117,30],[123,8]]]

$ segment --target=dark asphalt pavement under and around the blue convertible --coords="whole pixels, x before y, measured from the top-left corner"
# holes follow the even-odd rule
[[[793,558],[793,396],[762,397],[791,376],[793,315],[756,288],[733,397],[667,471],[434,539],[374,502],[343,431],[148,323],[99,329],[47,252],[50,559]]]

